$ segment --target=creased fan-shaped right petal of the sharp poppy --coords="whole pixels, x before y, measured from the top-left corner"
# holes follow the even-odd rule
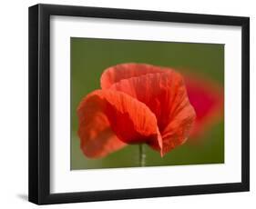
[[[163,72],[163,71],[162,71]],[[195,118],[195,111],[189,104],[182,76],[173,70],[122,79],[111,85],[111,90],[124,92],[138,99],[156,115],[159,132],[162,135],[161,154],[168,153],[188,138]]]

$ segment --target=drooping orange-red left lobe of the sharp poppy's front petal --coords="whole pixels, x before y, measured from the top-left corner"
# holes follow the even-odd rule
[[[108,117],[97,110],[94,101],[82,101],[77,109],[77,114],[80,148],[87,157],[104,157],[126,145],[110,128]]]

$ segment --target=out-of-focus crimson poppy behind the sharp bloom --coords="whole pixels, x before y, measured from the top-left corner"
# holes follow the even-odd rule
[[[199,76],[184,76],[189,102],[194,107],[197,117],[190,132],[196,138],[220,120],[224,114],[224,91],[220,85],[200,78]]]

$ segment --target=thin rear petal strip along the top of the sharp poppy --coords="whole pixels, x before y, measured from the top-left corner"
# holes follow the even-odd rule
[[[122,79],[137,77],[140,75],[162,73],[166,68],[148,64],[119,64],[108,67],[100,78],[102,89],[107,89],[111,85],[118,83]]]

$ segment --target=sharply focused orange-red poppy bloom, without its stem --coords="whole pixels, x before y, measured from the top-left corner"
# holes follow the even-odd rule
[[[101,88],[77,108],[81,149],[103,157],[145,143],[161,156],[183,144],[195,119],[184,81],[172,69],[143,64],[109,67]]]

